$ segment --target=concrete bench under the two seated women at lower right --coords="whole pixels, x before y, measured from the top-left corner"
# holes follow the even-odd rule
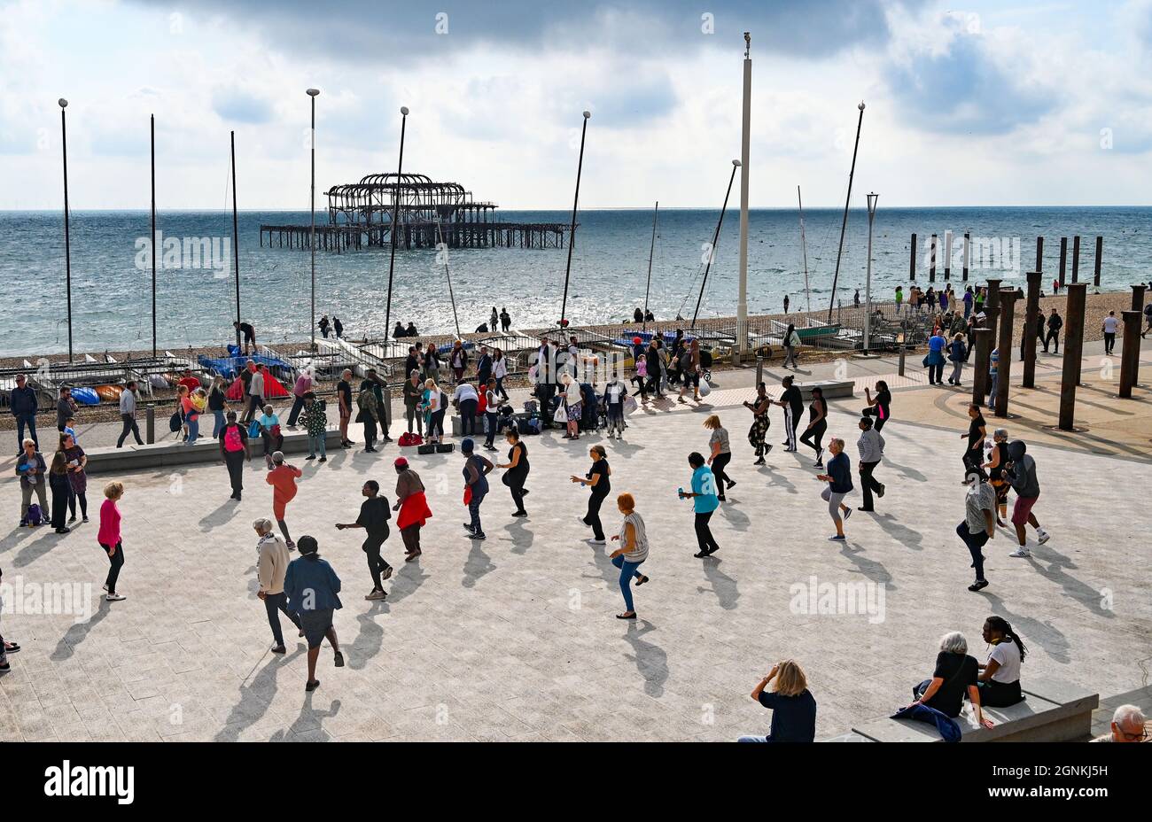
[[[1058,679],[1029,679],[1024,701],[1008,708],[984,708],[991,729],[976,724],[970,705],[956,717],[965,743],[1066,743],[1085,739],[1099,694]],[[912,720],[879,718],[852,728],[852,733],[878,743],[939,743],[935,725]],[[839,739],[839,738],[838,738]],[[844,740],[847,741],[847,740]]]

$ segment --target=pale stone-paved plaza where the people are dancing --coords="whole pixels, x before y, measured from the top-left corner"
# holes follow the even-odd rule
[[[384,602],[362,599],[371,584],[359,540],[333,524],[355,518],[364,479],[379,479],[393,496],[396,449],[302,463],[288,522],[296,538],[319,538],[343,579],[336,631],[348,657],[338,670],[321,653],[312,694],[303,690],[303,644],[288,630],[287,656],[270,654],[255,596],[250,523],[271,512],[263,471],[248,474],[240,504],[228,500],[222,466],[126,475],[126,601],[97,601],[107,561],[94,519],[63,538],[23,528],[0,540],[5,583],[89,583],[93,608],[81,623],[70,614],[3,615],[3,633],[24,649],[0,676],[0,738],[725,740],[765,731],[770,715],[748,694],[783,657],[806,669],[817,736],[828,737],[907,702],[931,672],[942,633],[963,631],[983,659],[979,630],[990,614],[1028,644],[1025,678],[1101,694],[1145,684],[1152,561],[1143,500],[1130,489],[1147,487],[1147,463],[1030,449],[1044,489],[1036,512],[1053,538],[1033,545],[1031,560],[1015,560],[1000,531],[986,549],[992,585],[971,594],[970,557],[954,533],[964,493],[958,424],[920,426],[897,414],[884,432],[877,475],[888,490],[879,512],[857,512],[838,546],[826,541],[831,522],[810,452],[782,454],[778,444],[768,465],[751,465],[751,417],[738,404],[748,394],[717,390],[700,408],[661,403],[631,418],[624,442],[605,443],[613,488],[636,495],[652,541],[644,566],[652,581],[635,594],[636,623],[614,618],[623,609],[619,572],[604,547],[582,541],[590,533],[576,523],[586,492],[568,475],[586,470],[597,437],[526,437],[531,516],[509,518],[507,492],[494,481],[484,542],[464,539],[460,525],[461,456],[409,454],[434,517],[418,563],[400,562],[396,534],[386,543],[397,570]],[[858,404],[832,403],[829,436],[848,440],[852,456]],[[689,504],[675,489],[689,482],[688,451],[706,449],[700,424],[711,411],[732,431],[729,472],[740,485],[713,518],[721,551],[700,561]],[[775,412],[770,436],[782,436]],[[0,488],[3,516],[15,522],[15,485]],[[858,494],[849,500],[859,504]],[[619,515],[609,508],[611,534]],[[810,584],[856,583],[874,606],[882,593],[882,611],[799,607]]]

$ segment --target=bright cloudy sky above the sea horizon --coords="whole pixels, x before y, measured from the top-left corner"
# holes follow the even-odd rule
[[[0,208],[309,206],[404,170],[502,208],[1152,204],[1152,0],[0,0]],[[856,205],[863,205],[862,203]]]

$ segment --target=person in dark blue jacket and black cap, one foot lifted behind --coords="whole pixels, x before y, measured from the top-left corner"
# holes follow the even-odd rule
[[[317,553],[319,545],[314,536],[301,536],[296,542],[300,556],[288,563],[285,572],[285,593],[288,610],[300,617],[300,626],[308,640],[308,682],[305,691],[320,686],[316,678],[316,660],[320,655],[320,642],[328,638],[336,668],[344,667],[344,655],[340,653],[336,630],[332,626],[332,615],[340,603],[340,577],[327,561]]]

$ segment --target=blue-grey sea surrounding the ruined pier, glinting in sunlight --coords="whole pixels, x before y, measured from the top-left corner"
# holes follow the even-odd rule
[[[566,211],[498,211],[505,222],[568,223]],[[317,219],[326,213],[319,211]],[[588,210],[577,215],[576,244],[568,249],[397,250],[392,320],[420,333],[462,333],[486,322],[494,306],[507,309],[516,328],[551,326],[560,318],[568,272],[571,325],[629,320],[645,302],[659,321],[732,317],[738,288],[740,214],[729,208],[661,210],[653,244],[652,210]],[[752,314],[827,310],[851,305],[867,292],[869,216],[851,210],[841,249],[843,212],[749,212],[748,307]],[[71,340],[82,351],[143,351],[152,344],[153,289],[147,211],[70,213]],[[1124,289],[1152,274],[1152,208],[963,207],[877,210],[872,229],[871,294],[890,299],[907,287],[910,239],[918,235],[917,277],[926,283],[932,234],[938,236],[937,282],[943,279],[946,235],[953,235],[952,276],[960,281],[964,234],[971,237],[970,280],[1024,281],[1036,268],[1036,241],[1044,237],[1041,271],[1051,288],[1068,237],[1081,236],[1079,277],[1091,279],[1096,238],[1104,237],[1101,290]],[[238,214],[240,314],[260,342],[306,340],[312,300],[306,250],[262,248],[259,226],[308,224],[308,212],[245,211]],[[717,227],[720,223],[718,242]],[[232,214],[160,212],[157,229],[156,326],[161,349],[223,345],[234,337],[236,268]],[[651,266],[650,266],[651,256]],[[840,271],[836,275],[836,260]],[[711,265],[710,265],[711,258]],[[339,317],[344,336],[380,337],[385,327],[389,250],[318,251],[316,317]],[[447,271],[446,271],[447,265]],[[449,279],[450,294],[449,297]],[[833,291],[833,282],[836,290]],[[68,300],[62,212],[0,212],[0,300],[7,306],[0,337],[5,356],[68,350]],[[926,286],[925,286],[926,288]]]

